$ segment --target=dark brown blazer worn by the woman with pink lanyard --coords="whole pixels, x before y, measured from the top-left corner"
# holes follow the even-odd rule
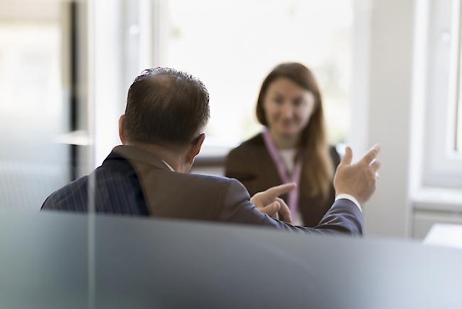
[[[330,148],[330,154],[333,166],[336,168],[340,163],[340,156],[335,147]],[[226,160],[225,175],[244,184],[251,197],[257,192],[262,192],[282,183],[272,157],[264,145],[262,133],[231,150]],[[308,186],[308,181],[304,175],[304,173],[301,174],[299,184],[299,209],[303,225],[313,227],[318,224],[331,207],[335,192],[331,185],[328,197],[309,197],[306,193],[307,190],[304,189]],[[282,199],[287,201],[287,194],[282,196]]]

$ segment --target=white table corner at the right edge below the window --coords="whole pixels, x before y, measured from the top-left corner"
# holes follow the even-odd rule
[[[434,224],[431,226],[429,234],[426,234],[424,243],[462,248],[462,225]]]

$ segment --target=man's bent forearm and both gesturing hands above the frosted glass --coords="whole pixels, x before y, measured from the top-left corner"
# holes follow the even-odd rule
[[[290,217],[290,213],[286,214],[288,209],[284,201],[276,200],[279,194],[294,188],[290,184],[270,188],[258,193],[259,196],[255,194],[250,199],[242,184],[230,181],[227,194],[225,194],[225,208],[221,219],[232,223],[272,226],[294,232],[362,235],[363,219],[360,204],[370,199],[375,191],[376,174],[380,168],[380,162],[375,158],[379,152],[380,147],[375,146],[358,163],[351,164],[353,153],[349,147],[347,148],[345,157],[340,162],[334,177],[335,202],[318,226],[314,228],[292,226],[269,216],[274,216],[272,211],[279,211],[282,219]]]

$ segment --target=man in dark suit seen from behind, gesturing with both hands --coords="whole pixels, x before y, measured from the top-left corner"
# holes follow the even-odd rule
[[[200,80],[171,68],[144,70],[131,84],[127,108],[119,118],[122,145],[114,147],[90,175],[51,194],[42,209],[86,212],[92,199],[95,211],[102,214],[362,234],[360,205],[375,191],[380,168],[375,157],[380,147],[373,147],[356,164],[351,164],[353,153],[347,147],[334,177],[335,201],[318,226],[309,229],[289,224],[290,211],[279,199],[295,184],[269,188],[250,198],[235,179],[188,174],[205,139],[209,117],[209,95]],[[91,190],[90,184],[95,186]]]

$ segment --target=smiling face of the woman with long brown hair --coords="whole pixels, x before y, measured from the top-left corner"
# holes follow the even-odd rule
[[[269,84],[263,108],[267,125],[279,135],[298,135],[308,124],[315,98],[289,78],[277,78]]]

